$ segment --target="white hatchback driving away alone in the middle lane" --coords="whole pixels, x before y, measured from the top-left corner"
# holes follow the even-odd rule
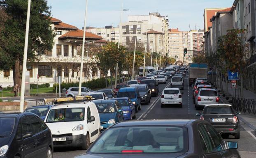
[[[182,94],[179,88],[165,88],[161,94],[161,108],[164,105],[179,105],[182,108]]]

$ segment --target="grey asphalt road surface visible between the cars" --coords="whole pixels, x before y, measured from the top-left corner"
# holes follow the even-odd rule
[[[169,81],[166,84],[158,86],[159,95],[151,98],[149,105],[142,105],[142,110],[137,113],[136,120],[142,119],[197,119],[196,112],[202,112],[202,110],[195,110],[195,105],[192,99],[192,87],[188,86],[187,78],[185,77],[184,92],[183,95],[183,107],[177,106],[161,108],[160,94],[165,87],[169,87]],[[228,141],[237,141],[238,150],[242,158],[255,158],[256,156],[256,136],[255,132],[251,132],[251,128],[240,121],[241,137],[240,139],[234,139],[233,136],[225,137]],[[54,158],[73,158],[79,154],[85,153],[85,150],[61,148],[54,149]]]

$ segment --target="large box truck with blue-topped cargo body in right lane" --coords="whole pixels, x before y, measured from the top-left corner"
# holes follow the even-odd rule
[[[189,63],[189,86],[193,85],[196,78],[207,78],[207,70],[205,63]]]

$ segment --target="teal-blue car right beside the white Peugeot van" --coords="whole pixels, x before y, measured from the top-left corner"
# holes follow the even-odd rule
[[[123,109],[116,100],[97,100],[95,103],[99,115],[101,131],[104,131],[114,123],[123,121]]]

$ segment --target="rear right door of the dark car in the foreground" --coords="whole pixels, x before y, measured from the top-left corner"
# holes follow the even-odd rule
[[[201,158],[222,158],[221,152],[216,150],[212,137],[208,134],[204,124],[198,125],[199,141],[202,148]]]

